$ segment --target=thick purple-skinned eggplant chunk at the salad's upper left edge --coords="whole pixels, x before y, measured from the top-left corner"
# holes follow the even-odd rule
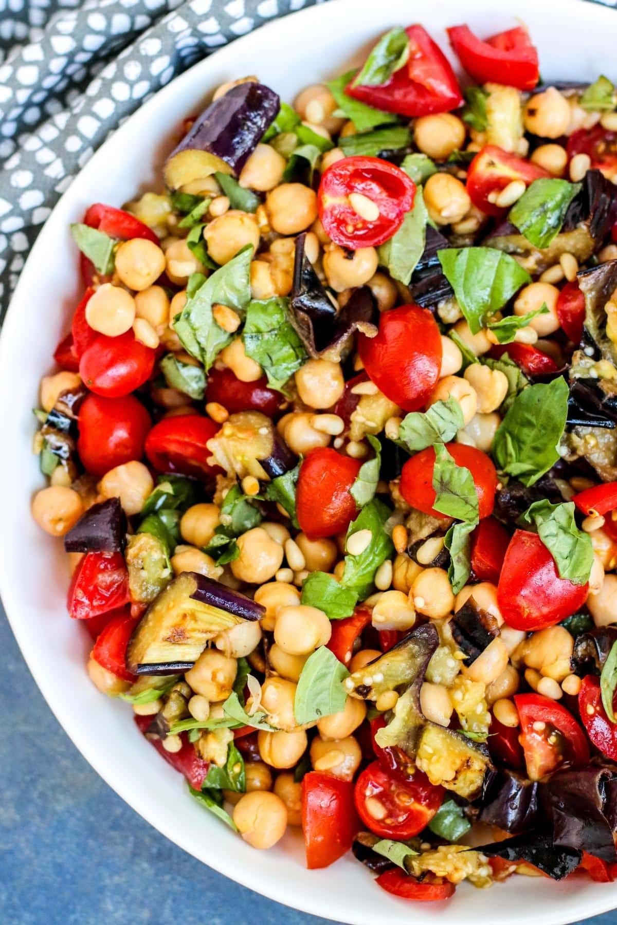
[[[238,176],[279,108],[278,93],[263,83],[250,81],[232,87],[195,119],[167,158],[167,186],[177,190],[217,170]]]

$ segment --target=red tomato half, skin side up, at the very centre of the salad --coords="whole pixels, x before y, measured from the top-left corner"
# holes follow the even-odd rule
[[[350,488],[361,462],[329,447],[309,450],[300,466],[296,512],[309,539],[336,536],[351,524],[358,508]]]

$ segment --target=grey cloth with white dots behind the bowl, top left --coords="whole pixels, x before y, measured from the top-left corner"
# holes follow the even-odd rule
[[[0,323],[43,222],[123,119],[221,45],[323,2],[0,0]]]

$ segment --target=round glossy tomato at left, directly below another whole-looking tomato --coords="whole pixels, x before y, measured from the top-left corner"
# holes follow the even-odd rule
[[[105,475],[124,462],[141,460],[151,424],[150,415],[134,395],[123,399],[87,395],[78,416],[81,462],[93,475]]]

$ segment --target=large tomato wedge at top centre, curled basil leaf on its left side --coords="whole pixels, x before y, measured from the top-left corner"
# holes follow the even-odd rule
[[[409,26],[409,59],[406,67],[396,70],[386,83],[378,86],[353,86],[345,93],[376,109],[400,116],[429,116],[446,113],[463,103],[454,71],[448,58],[422,26]]]

